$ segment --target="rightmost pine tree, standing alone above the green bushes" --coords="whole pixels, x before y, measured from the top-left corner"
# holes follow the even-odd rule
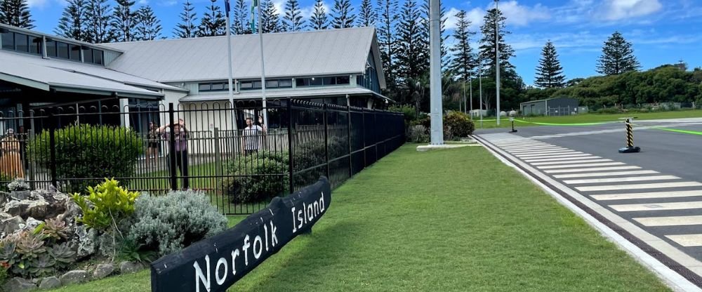
[[[636,71],[641,67],[634,55],[632,44],[619,32],[614,32],[602,46],[602,55],[597,60],[597,73],[616,75]]]

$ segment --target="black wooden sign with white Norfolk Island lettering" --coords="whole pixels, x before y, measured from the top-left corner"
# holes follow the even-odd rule
[[[326,213],[331,185],[314,185],[249,215],[229,230],[151,264],[151,291],[226,291]]]

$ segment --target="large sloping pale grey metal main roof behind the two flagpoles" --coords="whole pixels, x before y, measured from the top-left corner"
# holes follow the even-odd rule
[[[125,53],[107,65],[110,69],[159,82],[223,80],[227,71],[226,36],[165,39],[102,44]],[[231,37],[235,79],[260,78],[258,34]],[[376,70],[382,62],[373,27],[310,32],[263,34],[265,75],[308,77],[363,74],[373,51]],[[383,74],[378,74],[385,87]]]

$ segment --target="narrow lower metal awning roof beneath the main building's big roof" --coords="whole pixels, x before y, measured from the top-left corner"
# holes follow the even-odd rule
[[[383,95],[371,91],[362,87],[342,87],[342,88],[314,88],[314,89],[289,89],[282,91],[266,91],[266,99],[276,99],[276,98],[306,98],[306,97],[319,97],[319,96],[329,96],[329,95],[362,95],[369,94],[375,95],[385,100],[389,100]],[[239,94],[234,94],[235,100],[249,100],[261,98],[260,91],[251,92],[241,92]],[[213,93],[207,95],[187,95],[180,98],[180,102],[205,102],[205,101],[216,101],[216,100],[229,100],[228,93]]]

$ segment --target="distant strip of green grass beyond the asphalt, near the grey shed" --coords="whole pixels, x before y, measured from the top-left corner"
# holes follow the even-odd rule
[[[680,119],[680,118],[699,118],[702,117],[702,110],[677,110],[669,112],[647,112],[647,113],[631,113],[631,114],[576,114],[572,116],[562,117],[517,117],[518,120],[536,123],[549,124],[582,124],[582,123],[597,123],[606,121],[621,121],[619,118],[637,117],[637,119]],[[498,128],[494,117],[485,118],[488,121],[483,121],[482,128]],[[481,128],[479,119],[475,121],[475,128]],[[515,126],[538,126],[538,124],[529,124],[515,122]],[[499,128],[510,127],[510,119],[502,117],[500,119]]]

